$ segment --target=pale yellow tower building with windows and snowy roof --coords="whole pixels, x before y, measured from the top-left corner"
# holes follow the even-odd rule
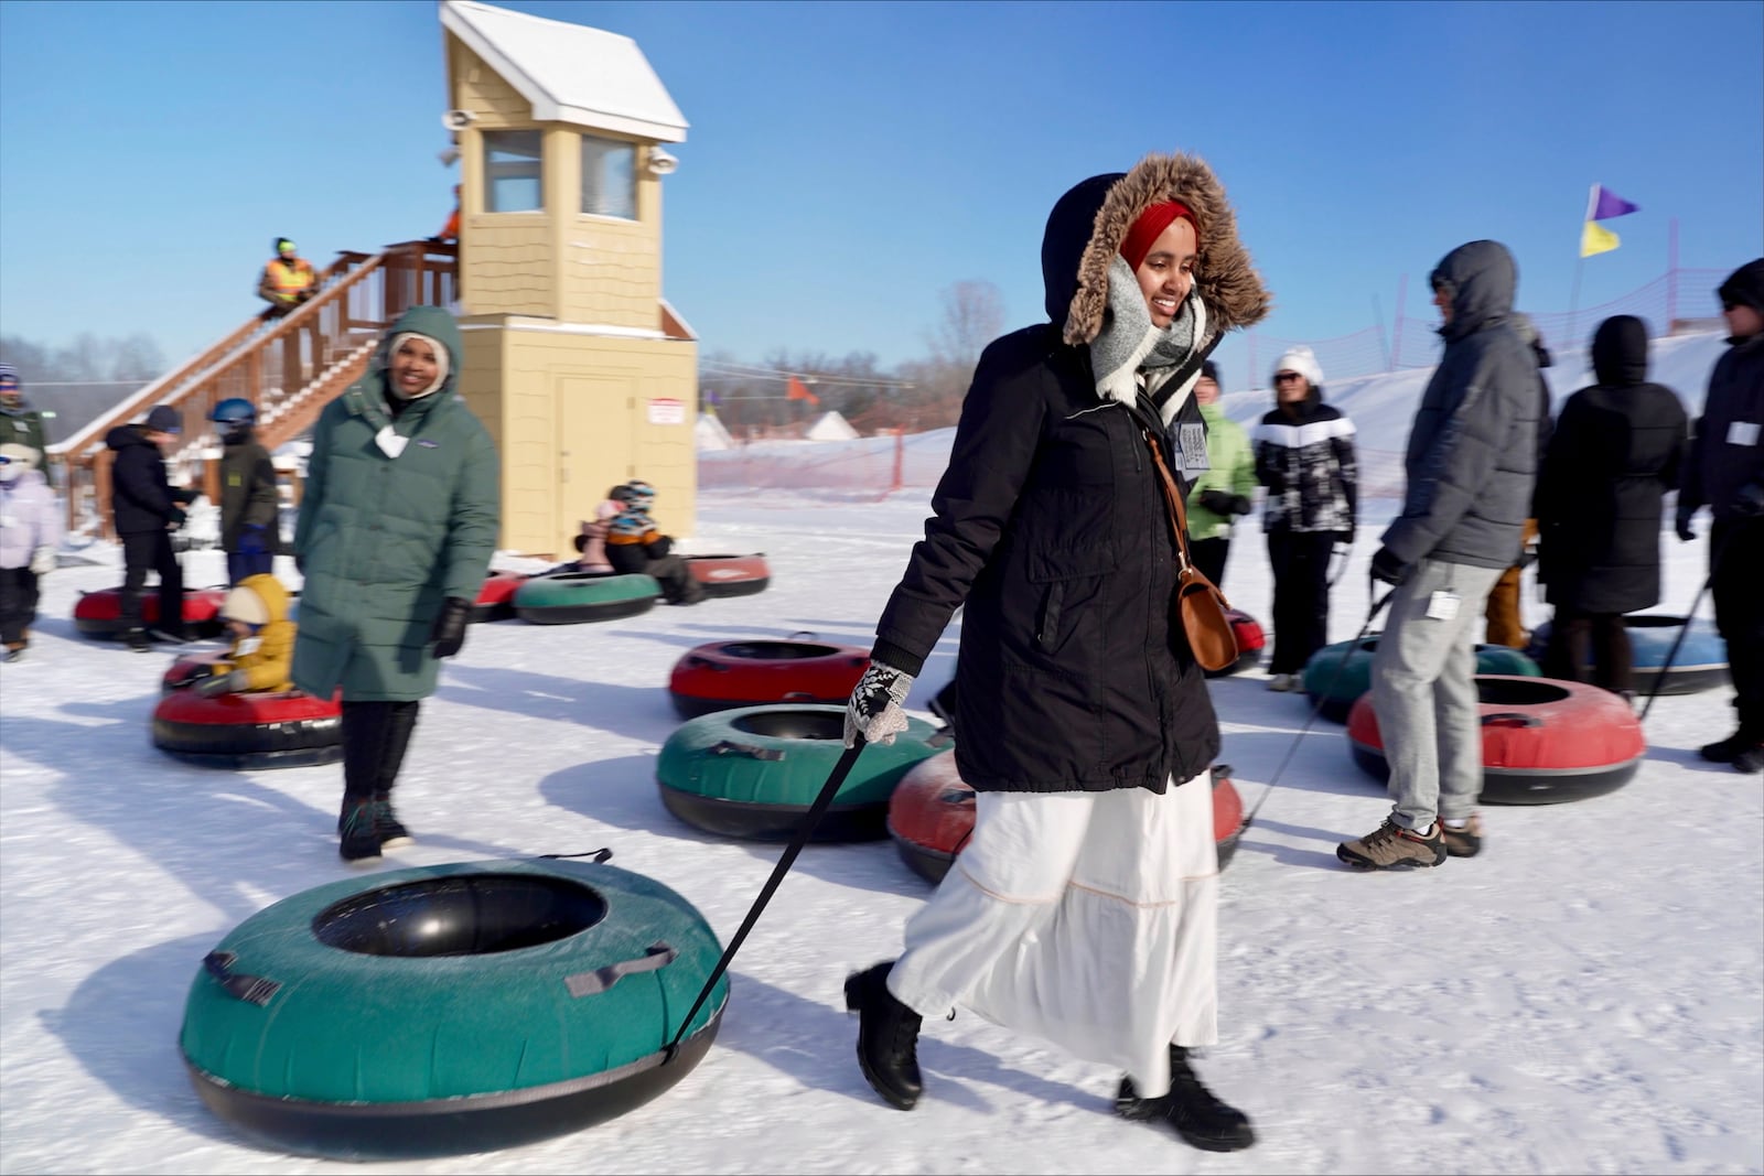
[[[690,534],[699,347],[662,296],[663,145],[686,120],[630,37],[473,0],[441,26],[460,383],[503,455],[499,547],[566,557],[630,478]]]

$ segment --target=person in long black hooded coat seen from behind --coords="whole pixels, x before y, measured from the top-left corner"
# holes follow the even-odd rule
[[[1538,469],[1540,577],[1556,607],[1544,674],[1633,695],[1623,614],[1660,601],[1660,501],[1678,488],[1686,416],[1678,393],[1646,383],[1648,326],[1633,316],[1598,324],[1593,374]]]

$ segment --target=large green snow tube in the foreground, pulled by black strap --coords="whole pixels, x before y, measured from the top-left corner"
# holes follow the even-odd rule
[[[305,890],[203,959],[178,1047],[247,1135],[349,1160],[487,1151],[580,1130],[684,1077],[729,979],[662,883],[579,860],[420,866]]]

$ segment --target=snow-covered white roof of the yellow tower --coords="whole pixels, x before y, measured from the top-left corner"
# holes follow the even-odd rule
[[[630,37],[475,0],[445,0],[441,26],[533,104],[534,122],[686,141],[686,116]]]

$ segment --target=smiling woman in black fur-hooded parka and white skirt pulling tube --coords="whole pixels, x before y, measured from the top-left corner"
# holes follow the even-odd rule
[[[975,829],[905,954],[847,980],[857,1054],[877,1093],[912,1107],[921,1017],[960,1003],[1125,1070],[1124,1116],[1237,1150],[1249,1121],[1187,1063],[1217,1038],[1219,725],[1171,617],[1152,446],[1185,495],[1207,469],[1201,361],[1267,314],[1267,291],[1224,189],[1184,155],[1062,196],[1041,268],[1050,323],[981,354],[847,714],[847,744],[893,739],[965,608],[954,730]]]

